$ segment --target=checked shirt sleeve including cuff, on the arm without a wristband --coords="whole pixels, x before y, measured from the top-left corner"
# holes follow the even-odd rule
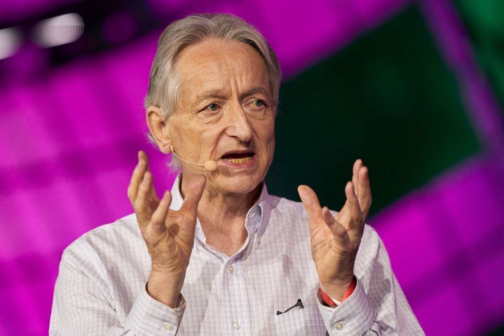
[[[154,300],[145,288],[140,291],[125,320],[114,307],[102,264],[93,251],[67,248],[61,257],[54,287],[50,335],[163,335],[176,334],[185,309]]]

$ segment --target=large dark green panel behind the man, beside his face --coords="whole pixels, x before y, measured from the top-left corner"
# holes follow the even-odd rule
[[[281,88],[269,190],[308,184],[339,210],[352,163],[369,167],[376,212],[479,150],[453,74],[416,7]]]

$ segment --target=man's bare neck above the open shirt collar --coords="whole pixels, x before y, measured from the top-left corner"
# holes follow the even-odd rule
[[[182,179],[180,192],[184,196],[188,181]],[[248,193],[216,191],[209,186],[203,191],[198,205],[198,219],[206,236],[207,244],[232,256],[248,237],[245,217],[261,193],[261,184]]]

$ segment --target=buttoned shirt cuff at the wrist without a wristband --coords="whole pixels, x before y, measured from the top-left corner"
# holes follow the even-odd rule
[[[175,335],[185,310],[185,299],[180,294],[177,308],[154,300],[145,289],[135,300],[125,326],[137,335]]]

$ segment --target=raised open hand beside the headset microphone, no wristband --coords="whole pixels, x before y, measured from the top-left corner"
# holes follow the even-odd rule
[[[198,203],[205,189],[206,177],[197,175],[188,184],[179,211],[168,210],[170,192],[165,191],[159,200],[152,181],[147,154],[140,151],[138,165],[128,187],[128,197],[152,259],[147,292],[155,300],[176,308],[193,250]]]

